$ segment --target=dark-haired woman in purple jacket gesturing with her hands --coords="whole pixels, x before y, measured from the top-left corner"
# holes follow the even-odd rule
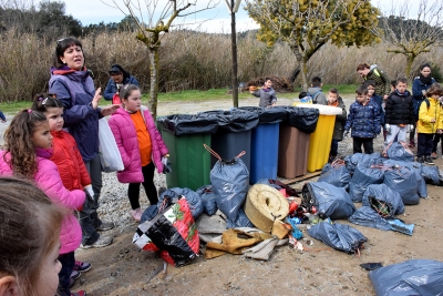
[[[99,108],[99,88],[95,91],[90,72],[84,67],[82,43],[74,38],[56,42],[51,68],[49,90],[64,106],[64,127],[76,141],[78,149],[91,176],[94,196],[86,198],[80,211],[83,247],[101,247],[112,243],[112,237],[100,236],[96,231],[114,227],[114,223],[101,221],[97,216],[99,196],[102,188],[102,171],[99,157],[99,119],[111,115],[119,105]]]

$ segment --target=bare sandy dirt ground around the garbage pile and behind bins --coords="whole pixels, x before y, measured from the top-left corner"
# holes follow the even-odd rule
[[[229,105],[229,102],[226,105],[217,103],[217,108],[225,110]],[[192,103],[168,104],[159,105],[158,114],[187,113],[187,108],[195,111]],[[209,108],[214,110],[214,104]],[[443,165],[441,156],[436,165]],[[301,185],[295,184],[295,187]],[[412,258],[443,261],[442,188],[427,185],[427,190],[426,200],[422,198],[419,205],[406,206],[405,214],[401,215],[406,223],[415,224],[412,236],[337,221],[352,225],[368,237],[360,257],[334,251],[313,239],[315,244],[305,245],[307,251],[303,252],[290,245],[280,246],[267,262],[230,254],[208,261],[199,256],[184,267],[168,266],[165,276],[161,273],[151,282],[150,276],[163,266],[163,261],[155,253],[142,252],[132,244],[136,224],[127,221],[106,233],[114,236],[115,242],[111,246],[76,252],[78,259],[92,263],[93,268],[81,276],[72,290],[85,289],[91,296],[374,295],[368,272],[360,264],[380,262],[385,266]],[[356,204],[357,207],[360,205]],[[306,233],[305,237],[310,238]]]

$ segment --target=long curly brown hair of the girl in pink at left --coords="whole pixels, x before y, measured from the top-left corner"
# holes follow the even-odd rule
[[[6,153],[3,160],[16,176],[33,177],[37,162],[32,136],[35,127],[43,122],[48,122],[44,114],[25,109],[17,113],[4,132]]]

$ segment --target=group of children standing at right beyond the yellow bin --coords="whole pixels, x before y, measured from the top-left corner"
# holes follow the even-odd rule
[[[349,134],[353,141],[353,153],[370,154],[373,153],[373,139],[381,131],[384,147],[396,141],[406,145],[408,134],[409,147],[415,147],[416,132],[416,161],[434,165],[439,142],[442,142],[443,154],[443,88],[431,76],[431,67],[427,63],[420,67],[420,75],[412,83],[412,93],[408,90],[405,78],[389,81],[385,73],[368,64],[359,64],[357,71],[364,81],[356,90],[356,101],[349,106],[348,114],[337,89],[330,89],[323,100],[326,96],[318,76],[312,78],[308,92],[300,92],[299,95],[301,103],[343,110],[341,115],[336,116],[329,160],[337,159],[338,142]],[[368,78],[377,78],[379,85]],[[388,93],[389,86],[391,91]]]

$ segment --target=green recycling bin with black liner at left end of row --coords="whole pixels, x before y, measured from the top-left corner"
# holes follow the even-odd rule
[[[197,188],[210,184],[210,134],[217,132],[217,118],[175,114],[157,119],[163,141],[169,150],[172,172],[166,174],[167,187]]]

